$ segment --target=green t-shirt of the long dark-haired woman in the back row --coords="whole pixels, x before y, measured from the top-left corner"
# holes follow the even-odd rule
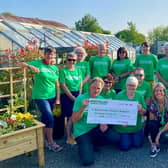
[[[115,73],[116,76],[120,76],[123,73],[126,72],[132,72],[133,71],[133,64],[131,59],[123,59],[123,60],[114,60],[111,66],[111,70]],[[127,77],[120,78],[118,83],[114,84],[115,89],[123,89],[125,86]]]

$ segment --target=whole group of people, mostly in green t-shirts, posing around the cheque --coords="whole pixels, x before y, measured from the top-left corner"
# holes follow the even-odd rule
[[[52,47],[44,50],[43,59],[20,64],[35,72],[32,97],[46,125],[44,138],[49,150],[63,149],[53,140],[52,110],[60,103],[67,118],[66,142],[77,143],[83,165],[94,163],[94,151],[99,145],[115,144],[122,151],[142,147],[144,130],[151,144],[151,157],[160,151],[160,142],[168,143],[168,45],[166,56],[160,60],[150,53],[148,42],[141,47],[142,54],[136,56],[134,64],[125,47],[118,49],[112,61],[105,44],[98,45],[98,55],[89,61],[84,60],[84,48],[75,48],[67,54],[65,67],[60,70]],[[138,102],[136,125],[88,124],[90,98]]]

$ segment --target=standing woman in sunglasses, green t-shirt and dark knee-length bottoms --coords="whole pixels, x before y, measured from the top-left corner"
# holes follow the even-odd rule
[[[72,108],[76,97],[82,92],[82,73],[75,67],[77,55],[68,53],[66,67],[60,70],[61,85],[61,110],[67,117],[67,140],[68,144],[75,144],[72,134]]]

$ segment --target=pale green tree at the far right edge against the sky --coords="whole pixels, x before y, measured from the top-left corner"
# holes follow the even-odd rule
[[[148,33],[148,40],[154,44],[156,41],[168,41],[168,26],[158,26]]]

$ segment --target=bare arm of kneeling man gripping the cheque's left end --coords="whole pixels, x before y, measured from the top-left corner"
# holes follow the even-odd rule
[[[82,118],[83,112],[85,111],[88,104],[89,104],[89,100],[84,100],[83,104],[82,104],[82,107],[79,109],[79,111],[74,111],[72,113],[72,122],[73,123],[78,122]]]

